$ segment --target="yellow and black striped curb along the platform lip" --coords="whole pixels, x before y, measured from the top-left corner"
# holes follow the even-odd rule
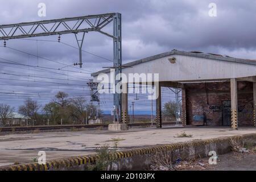
[[[200,146],[208,146],[210,144],[224,143],[224,142],[232,142],[237,141],[241,142],[246,138],[256,138],[256,134],[245,134],[245,135],[236,135],[232,137],[220,137],[214,139],[206,139],[206,140],[195,140],[191,142],[180,142],[173,144],[159,144],[156,146],[143,147],[143,148],[134,148],[131,150],[118,151],[110,156],[111,159],[123,159],[123,158],[131,158],[135,155],[146,155],[146,154],[157,154],[159,152],[164,151],[176,151],[189,147],[200,147]],[[48,171],[58,170],[63,168],[70,167],[78,167],[83,164],[94,164],[98,158],[97,154],[85,155],[85,156],[75,156],[70,158],[49,160],[45,165],[38,163],[26,163],[26,164],[18,164],[18,165],[10,165],[0,167],[0,171]]]

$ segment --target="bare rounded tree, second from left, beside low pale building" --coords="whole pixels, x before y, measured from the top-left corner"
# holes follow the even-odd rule
[[[19,113],[23,115],[28,115],[28,117],[32,118],[34,122],[36,121],[39,109],[40,105],[38,104],[38,102],[33,101],[31,98],[28,98],[26,101],[24,101],[24,104],[22,106],[19,106]]]

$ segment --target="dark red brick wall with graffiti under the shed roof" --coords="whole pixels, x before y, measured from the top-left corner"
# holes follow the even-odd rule
[[[253,84],[243,81],[238,82],[237,87],[238,125],[253,126]],[[230,82],[184,84],[184,88],[183,109],[186,108],[187,125],[202,125],[203,122],[194,121],[193,116],[203,113],[209,125],[222,125],[222,101],[230,101]]]

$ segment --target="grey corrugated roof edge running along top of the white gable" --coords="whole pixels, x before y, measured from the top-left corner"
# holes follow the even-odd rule
[[[164,52],[159,55],[155,56],[150,56],[146,57],[141,60],[133,61],[131,63],[123,64],[124,67],[133,67],[134,65],[145,63],[147,61],[152,61],[156,59],[160,59],[162,57],[167,57],[170,55],[184,55],[184,56],[191,56],[191,57],[199,57],[199,58],[204,58],[204,59],[210,59],[210,60],[220,60],[220,61],[229,61],[233,63],[241,63],[241,64],[249,64],[249,65],[256,65],[255,60],[250,60],[250,59],[238,59],[235,57],[230,57],[230,56],[225,56],[225,55],[217,55],[214,53],[205,53],[205,52],[199,52],[199,51],[192,51],[192,52],[186,52],[186,51],[177,51],[176,49],[170,51],[170,52]],[[92,73],[91,76],[97,76],[100,73],[109,73],[109,69],[104,69],[99,72]]]

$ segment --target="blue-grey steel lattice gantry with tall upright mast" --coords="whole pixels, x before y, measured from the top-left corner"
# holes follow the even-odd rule
[[[113,35],[103,31],[109,23],[113,22]],[[109,13],[99,15],[87,15],[73,18],[42,20],[38,22],[26,22],[16,24],[0,25],[0,40],[33,38],[38,36],[75,34],[79,46],[79,65],[82,67],[82,43],[84,35],[88,32],[100,32],[113,38],[113,67],[115,75],[122,72],[122,34],[121,34],[121,14]],[[77,34],[82,32],[82,39],[77,38]],[[120,77],[115,78],[115,85],[121,81]],[[114,121],[119,121],[121,110],[121,94],[114,92]]]

